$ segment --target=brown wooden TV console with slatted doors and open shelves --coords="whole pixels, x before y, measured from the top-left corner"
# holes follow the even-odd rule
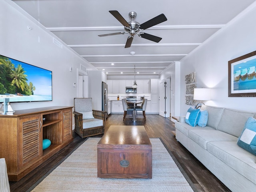
[[[54,106],[0,114],[0,158],[9,181],[18,181],[72,140],[72,108]],[[43,150],[42,140],[51,140]]]

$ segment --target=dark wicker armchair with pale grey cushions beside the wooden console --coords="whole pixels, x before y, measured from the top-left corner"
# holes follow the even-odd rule
[[[75,132],[81,137],[104,134],[107,112],[93,110],[92,98],[74,98]]]

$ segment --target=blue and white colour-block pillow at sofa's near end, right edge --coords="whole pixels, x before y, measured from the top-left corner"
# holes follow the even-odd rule
[[[237,144],[246,151],[256,155],[256,119],[248,118]]]

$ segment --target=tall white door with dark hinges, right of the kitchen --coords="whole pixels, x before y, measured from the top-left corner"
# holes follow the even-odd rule
[[[159,115],[170,117],[170,80],[160,80]]]

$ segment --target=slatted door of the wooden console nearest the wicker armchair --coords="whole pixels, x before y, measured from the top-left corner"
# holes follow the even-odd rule
[[[72,111],[63,110],[63,141],[72,137]]]

